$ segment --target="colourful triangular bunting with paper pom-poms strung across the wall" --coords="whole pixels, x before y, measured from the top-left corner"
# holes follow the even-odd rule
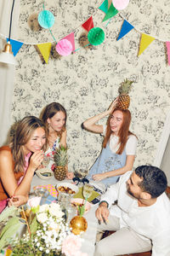
[[[105,17],[102,20],[102,22],[108,21],[105,26],[108,26],[108,24],[111,22],[112,17],[117,15],[120,10],[125,9],[129,3],[129,0],[112,0],[111,5],[109,6],[108,0],[104,0],[99,5],[99,10],[105,13]],[[119,14],[120,15],[120,14]],[[122,17],[122,15],[121,15]],[[126,19],[122,17],[122,28],[119,32],[117,41],[123,38],[125,35],[127,35],[128,32],[135,29],[137,32],[139,32],[131,23],[129,23]],[[38,15],[38,23],[40,26],[42,26],[45,29],[48,29],[51,36],[54,38],[54,34],[51,31],[51,27],[54,26],[54,15],[45,9],[45,4],[43,0],[43,9]],[[100,27],[94,27],[94,20],[93,16],[88,18],[83,24],[82,28],[88,31],[88,42],[92,45],[99,45],[102,44],[105,41],[105,32]],[[144,32],[140,32],[141,38],[139,42],[139,53],[138,55],[141,55],[145,49],[148,48],[148,46],[154,41],[159,40],[158,38],[154,38],[150,35],[145,34]],[[4,37],[2,34],[0,34],[2,37]],[[37,45],[37,48],[40,50],[42,57],[44,61],[48,64],[48,58],[51,51],[52,43],[56,43],[55,49],[59,53],[59,55],[71,55],[71,53],[76,53],[77,50],[81,49],[75,49],[75,35],[74,32],[71,32],[69,35],[65,36],[65,38],[62,38],[57,43],[56,39],[54,38],[53,42],[50,43],[42,43],[42,44],[34,44]],[[5,37],[4,37],[5,38]],[[8,41],[8,38],[6,38]],[[162,41],[166,44],[167,48],[167,64],[170,66],[170,41]],[[14,56],[19,52],[20,48],[23,44],[26,44],[24,42],[20,42],[14,39],[10,40],[10,43],[12,44],[12,49],[14,52]],[[88,46],[89,44],[85,45],[84,47]]]

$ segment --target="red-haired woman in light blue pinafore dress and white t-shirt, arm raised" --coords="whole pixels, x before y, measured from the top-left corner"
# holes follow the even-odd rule
[[[137,147],[137,137],[129,131],[131,113],[128,109],[116,108],[116,103],[117,99],[107,111],[83,123],[88,131],[104,135],[101,154],[90,168],[87,178],[106,186],[116,183],[120,175],[132,170]],[[107,115],[106,126],[96,124]]]

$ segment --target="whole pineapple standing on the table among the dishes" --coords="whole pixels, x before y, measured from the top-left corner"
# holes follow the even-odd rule
[[[68,162],[67,148],[60,146],[55,149],[54,153],[54,177],[58,180],[63,180],[66,177],[66,165]]]

